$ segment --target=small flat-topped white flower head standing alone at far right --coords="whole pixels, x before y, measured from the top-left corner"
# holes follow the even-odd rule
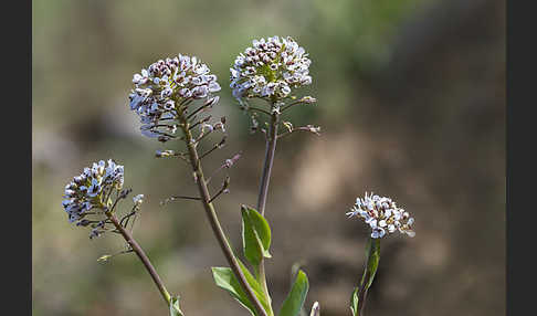
[[[387,232],[393,233],[399,230],[411,238],[415,235],[412,231],[414,219],[409,212],[396,206],[390,198],[365,194],[362,199],[357,198],[356,204],[350,212],[346,213],[349,218],[360,215],[367,224],[371,227],[371,238],[382,238]]]

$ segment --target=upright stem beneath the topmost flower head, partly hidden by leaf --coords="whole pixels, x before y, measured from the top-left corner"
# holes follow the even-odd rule
[[[265,161],[263,162],[263,173],[261,176],[260,194],[257,198],[257,211],[261,215],[265,214],[266,196],[268,193],[268,182],[271,180],[272,165],[274,162],[274,154],[276,151],[277,140],[277,125],[280,115],[275,112],[271,115],[271,125],[268,130],[268,138],[266,139]],[[257,275],[263,286],[263,291],[268,296],[268,286],[266,285],[265,261],[261,257],[257,266]]]

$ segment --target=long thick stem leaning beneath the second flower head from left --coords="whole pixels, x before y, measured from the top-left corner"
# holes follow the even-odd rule
[[[261,302],[257,299],[252,287],[246,282],[246,277],[242,273],[239,262],[235,255],[233,254],[230,242],[228,241],[228,238],[225,236],[223,229],[220,225],[220,222],[217,217],[217,212],[214,211],[214,206],[211,202],[209,189],[207,188],[207,181],[203,176],[203,170],[201,168],[201,160],[199,158],[198,150],[196,149],[196,144],[192,137],[192,133],[190,131],[189,124],[183,114],[179,117],[179,119],[181,120],[182,124],[181,128],[182,131],[185,133],[185,138],[186,138],[185,143],[187,144],[188,147],[190,162],[192,165],[192,170],[194,171],[196,175],[196,182],[198,183],[198,189],[201,196],[200,201],[203,204],[203,209],[206,210],[206,214],[209,220],[209,223],[211,224],[214,236],[217,238],[220,247],[222,249],[222,252],[225,259],[228,260],[228,263],[230,264],[230,267],[233,271],[235,277],[238,278],[244,292],[246,293],[248,298],[250,299],[250,302],[252,302],[253,306],[255,307],[255,310],[261,316],[267,316],[265,309],[261,305]]]

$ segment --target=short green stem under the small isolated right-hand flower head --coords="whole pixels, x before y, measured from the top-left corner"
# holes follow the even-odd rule
[[[352,294],[351,308],[355,316],[364,316],[367,291],[371,286],[380,260],[380,239],[369,238],[366,244],[366,266],[361,276],[360,286]]]

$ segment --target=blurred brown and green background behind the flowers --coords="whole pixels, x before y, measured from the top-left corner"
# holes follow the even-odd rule
[[[277,310],[299,262],[307,309],[350,315],[364,267],[366,224],[347,220],[375,191],[415,218],[414,239],[382,241],[370,315],[505,314],[505,3],[480,0],[33,1],[33,315],[167,315],[118,236],[88,240],[61,207],[83,167],[114,158],[126,187],[145,193],[135,236],[187,315],[248,315],[213,285],[227,265],[196,201],[186,165],[155,159],[173,148],[139,133],[128,108],[133,74],[178,53],[199,56],[222,86],[215,115],[228,146],[206,170],[242,150],[217,208],[241,245],[240,204],[256,203],[261,134],[229,88],[229,67],[253,39],[292,35],[313,61],[295,107],[295,134],[277,145],[266,217],[273,229],[268,286]],[[219,180],[220,181],[220,180]],[[218,188],[217,181],[212,187]]]

